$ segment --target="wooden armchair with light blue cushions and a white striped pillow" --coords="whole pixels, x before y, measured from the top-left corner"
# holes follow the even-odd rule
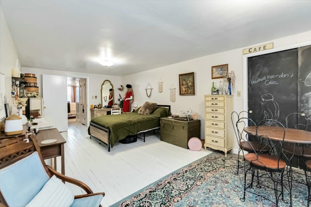
[[[73,195],[65,182],[86,194]],[[104,192],[93,193],[85,183],[46,165],[35,138],[0,148],[1,207],[101,207],[103,197]]]

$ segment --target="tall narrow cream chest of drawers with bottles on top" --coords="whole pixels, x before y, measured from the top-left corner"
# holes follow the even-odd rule
[[[231,122],[232,95],[205,95],[205,150],[210,147],[227,152],[232,149],[234,131]]]

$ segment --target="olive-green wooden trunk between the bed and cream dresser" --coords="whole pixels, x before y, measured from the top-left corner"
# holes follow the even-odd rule
[[[161,118],[161,141],[188,148],[192,137],[200,139],[200,120],[180,121],[173,118]]]

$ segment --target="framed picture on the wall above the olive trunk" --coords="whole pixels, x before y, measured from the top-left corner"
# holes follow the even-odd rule
[[[194,72],[179,74],[179,95],[194,95]]]

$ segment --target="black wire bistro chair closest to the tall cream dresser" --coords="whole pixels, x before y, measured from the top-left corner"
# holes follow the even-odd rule
[[[240,169],[240,153],[242,152],[242,157],[245,163],[245,159],[244,159],[244,151],[246,152],[252,152],[253,148],[256,150],[256,152],[259,152],[261,149],[261,143],[257,142],[257,140],[254,139],[254,137],[249,137],[248,135],[245,136],[245,134],[243,133],[243,129],[246,126],[249,125],[253,125],[256,126],[256,123],[251,120],[248,117],[244,117],[244,114],[248,114],[247,111],[241,111],[241,112],[236,112],[233,111],[231,113],[231,121],[232,121],[232,125],[233,125],[233,129],[234,129],[234,133],[235,133],[235,137],[237,139],[237,142],[239,144],[239,152],[238,152],[238,167],[237,167],[237,172],[236,175],[239,175],[239,169]],[[251,111],[250,111],[251,113]],[[250,141],[250,140],[252,141]],[[266,149],[262,149],[261,153],[269,153],[270,149],[266,148]]]

